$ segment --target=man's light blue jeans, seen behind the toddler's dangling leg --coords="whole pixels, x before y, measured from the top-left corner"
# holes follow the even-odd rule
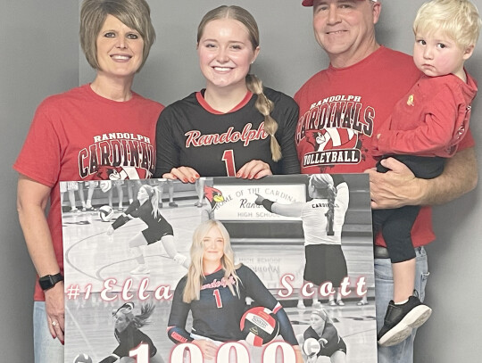
[[[428,278],[427,252],[423,247],[415,249],[416,273],[415,290],[420,301],[425,299],[425,285]],[[377,331],[383,326],[388,302],[394,298],[394,280],[390,259],[375,259],[375,296],[377,305]],[[413,363],[413,341],[417,329],[411,336],[391,347],[378,346],[378,363]]]

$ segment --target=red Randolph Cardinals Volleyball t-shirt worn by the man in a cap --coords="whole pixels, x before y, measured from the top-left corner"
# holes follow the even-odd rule
[[[303,173],[361,173],[376,164],[372,140],[395,103],[420,78],[407,54],[385,46],[350,67],[329,66],[295,95],[300,107],[296,148]],[[459,149],[474,145],[470,134]],[[435,239],[431,208],[422,207],[412,229],[414,246]],[[381,234],[377,244],[385,245]]]

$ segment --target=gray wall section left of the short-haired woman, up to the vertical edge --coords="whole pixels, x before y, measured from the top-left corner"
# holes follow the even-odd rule
[[[0,347],[3,362],[33,362],[31,338],[35,270],[19,227],[12,163],[37,104],[79,83],[78,4],[2,0],[0,11]],[[41,161],[39,161],[41,162]]]

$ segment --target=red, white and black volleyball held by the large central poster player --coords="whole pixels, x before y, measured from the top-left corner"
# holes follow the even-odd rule
[[[262,306],[248,309],[239,324],[245,334],[245,341],[256,347],[271,342],[279,332],[276,315]]]

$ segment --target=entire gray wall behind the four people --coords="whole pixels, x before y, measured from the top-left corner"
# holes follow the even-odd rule
[[[383,0],[378,40],[411,53],[411,21],[422,0]],[[475,0],[482,10],[482,0]],[[328,59],[312,36],[312,12],[301,0],[237,0],[253,12],[262,34],[262,53],[253,72],[267,86],[293,95]],[[137,76],[135,89],[164,104],[204,87],[195,54],[195,29],[202,15],[219,4],[216,0],[183,2],[150,0],[158,40],[145,69]],[[79,55],[78,3],[65,0],[2,0],[0,91],[3,127],[1,150],[3,193],[7,210],[0,220],[0,346],[2,361],[29,362],[31,346],[31,293],[33,268],[24,247],[16,216],[16,174],[12,162],[21,148],[37,104],[47,95],[62,92],[93,78]],[[471,74],[482,82],[480,44],[467,63]],[[473,104],[471,129],[482,144],[482,104]],[[478,148],[479,149],[479,148]],[[479,169],[482,163],[479,161]],[[478,361],[480,309],[482,301],[478,268],[482,260],[482,205],[480,188],[455,202],[436,207],[438,239],[428,247],[431,276],[428,303],[434,314],[419,332],[416,362],[452,363]]]

